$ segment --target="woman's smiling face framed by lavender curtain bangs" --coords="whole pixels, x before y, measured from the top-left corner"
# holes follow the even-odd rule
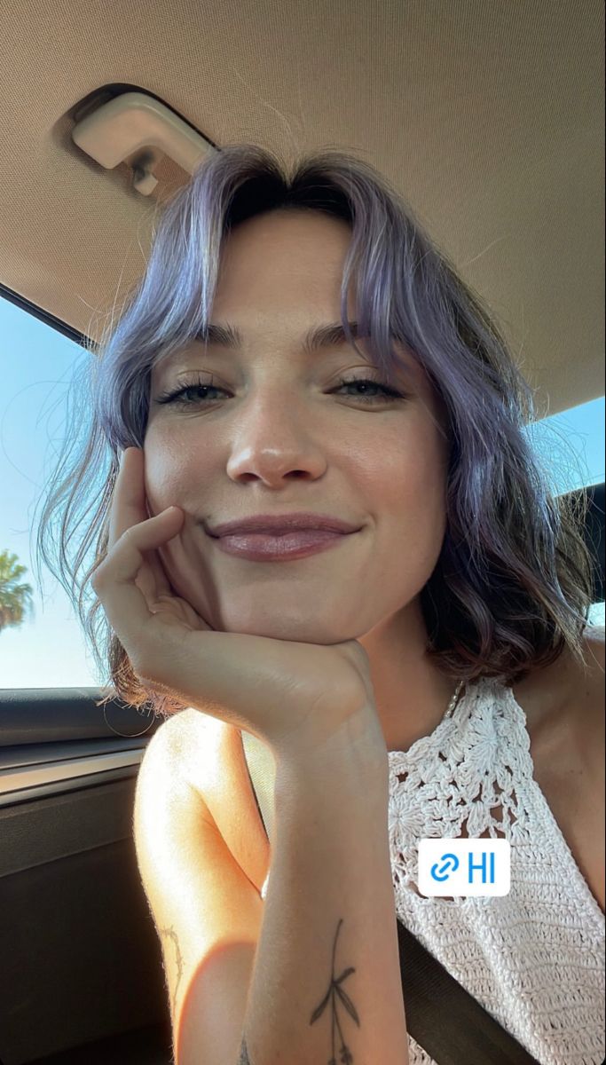
[[[160,555],[175,591],[215,629],[314,643],[358,638],[416,609],[440,555],[447,445],[424,373],[400,347],[410,374],[394,387],[407,398],[382,402],[380,389],[339,386],[343,376],[380,380],[346,342],[304,349],[310,328],[340,322],[349,240],[344,222],[317,213],[242,224],[224,244],[211,315],[238,330],[241,346],[194,342],[152,373],[148,508],[184,511]],[[192,382],[181,397],[187,406],[158,403]],[[224,554],[204,529],[293,511],[330,514],[359,531],[306,558],[250,561]]]

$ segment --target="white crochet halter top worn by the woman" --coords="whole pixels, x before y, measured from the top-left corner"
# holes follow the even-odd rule
[[[534,779],[511,688],[468,686],[452,718],[388,757],[398,918],[541,1065],[602,1065],[605,918]],[[417,892],[417,840],[456,836],[509,840],[508,895]],[[409,1058],[436,1065],[410,1035]]]

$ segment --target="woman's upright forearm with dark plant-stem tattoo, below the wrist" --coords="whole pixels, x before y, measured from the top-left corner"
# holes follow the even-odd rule
[[[242,1065],[408,1065],[388,797],[387,754],[278,763]]]

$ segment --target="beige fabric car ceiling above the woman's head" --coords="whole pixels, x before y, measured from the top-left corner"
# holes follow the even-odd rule
[[[119,313],[190,175],[164,155],[142,195],[71,130],[102,86],[136,91],[218,150],[371,163],[496,315],[539,416],[603,395],[603,0],[4,0],[2,22],[4,295],[93,340]]]

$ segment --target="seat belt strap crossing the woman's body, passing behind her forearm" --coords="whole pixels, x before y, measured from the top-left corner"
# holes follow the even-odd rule
[[[242,731],[259,816],[274,838],[276,766],[269,748]],[[437,1065],[540,1065],[397,918],[406,1027]]]

